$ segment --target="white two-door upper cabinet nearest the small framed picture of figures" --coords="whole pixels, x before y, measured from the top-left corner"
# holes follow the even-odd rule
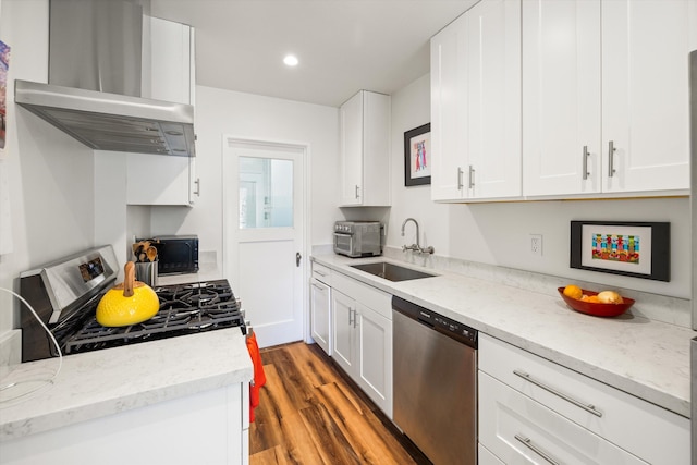
[[[518,197],[521,2],[484,0],[431,39],[431,198]]]

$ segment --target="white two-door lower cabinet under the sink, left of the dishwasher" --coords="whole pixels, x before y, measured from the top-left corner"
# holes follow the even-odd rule
[[[332,274],[332,357],[392,418],[391,295]]]

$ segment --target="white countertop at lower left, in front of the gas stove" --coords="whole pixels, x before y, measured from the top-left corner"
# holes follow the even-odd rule
[[[57,360],[21,364],[10,376],[52,371]],[[252,377],[240,328],[69,355],[52,384],[21,402],[0,404],[0,441],[248,382]]]

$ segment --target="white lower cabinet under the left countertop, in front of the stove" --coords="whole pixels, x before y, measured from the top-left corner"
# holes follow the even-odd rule
[[[4,441],[0,443],[0,463],[247,465],[249,383],[229,384]]]

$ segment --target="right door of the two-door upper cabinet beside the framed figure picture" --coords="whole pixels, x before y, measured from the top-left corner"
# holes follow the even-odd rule
[[[468,197],[521,196],[521,2],[484,0],[465,13]]]

